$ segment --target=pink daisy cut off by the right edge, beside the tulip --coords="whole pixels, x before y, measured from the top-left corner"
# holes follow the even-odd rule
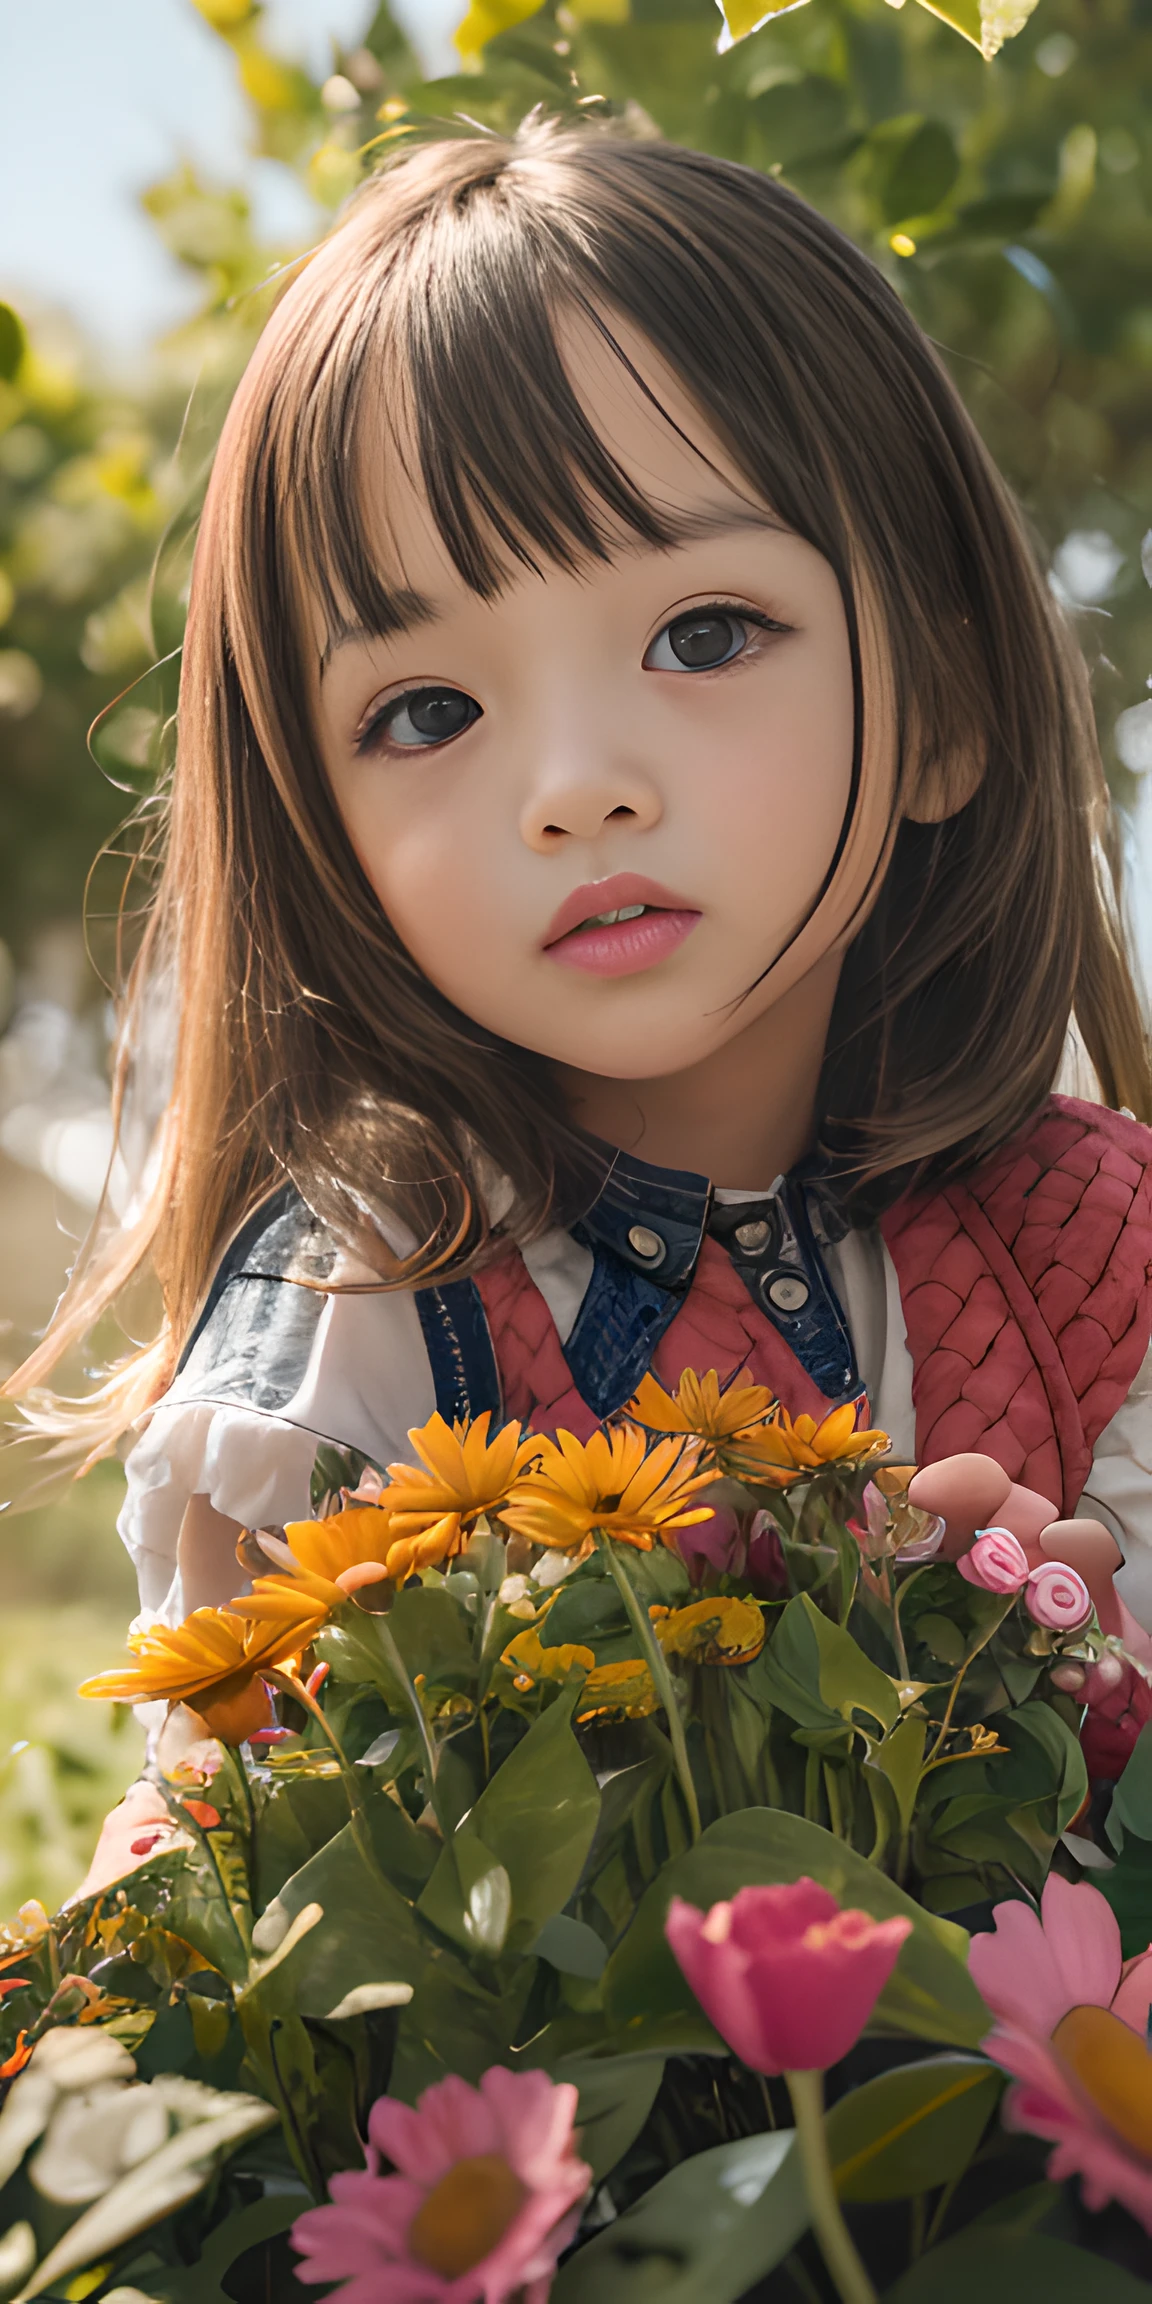
[[[1048,1875],[1041,1910],[998,1903],[968,1965],[995,2030],[984,2041],[1016,2087],[1005,2127],[1046,2136],[1048,2175],[1081,2177],[1087,2207],[1122,2200],[1152,2233],[1152,1947],[1124,1961],[1111,1903]]]

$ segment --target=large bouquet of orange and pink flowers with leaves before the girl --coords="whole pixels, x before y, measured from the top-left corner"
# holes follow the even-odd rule
[[[717,1375],[410,1440],[83,1689],[166,1698],[166,1820],[0,1935],[0,2299],[1152,2295],[1081,1578]]]

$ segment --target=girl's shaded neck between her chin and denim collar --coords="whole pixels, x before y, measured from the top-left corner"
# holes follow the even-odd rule
[[[576,1127],[657,1168],[767,1191],[809,1150],[841,956],[687,1071],[611,1081],[558,1064]]]

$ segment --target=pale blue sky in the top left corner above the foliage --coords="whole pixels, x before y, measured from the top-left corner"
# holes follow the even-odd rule
[[[270,0],[267,37],[325,69],[371,0]],[[433,69],[449,69],[463,0],[394,0]],[[191,0],[0,0],[0,295],[62,306],[113,357],[175,325],[196,290],[138,214],[182,157],[244,175],[270,230],[306,228],[288,168],[244,157],[226,46]]]

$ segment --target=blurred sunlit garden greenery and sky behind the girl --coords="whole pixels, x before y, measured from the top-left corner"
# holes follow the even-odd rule
[[[276,270],[412,136],[511,127],[535,104],[611,111],[783,175],[878,258],[1076,617],[1147,991],[1152,0],[806,0],[753,30],[758,14],[728,0],[726,30],[714,0],[0,0],[5,1375],[108,1164],[122,827],[170,749],[212,440]],[[138,1765],[131,1714],[71,1693],[136,1606],[120,1488],[104,1463],[0,1518],[0,1912],[69,1892]]]

